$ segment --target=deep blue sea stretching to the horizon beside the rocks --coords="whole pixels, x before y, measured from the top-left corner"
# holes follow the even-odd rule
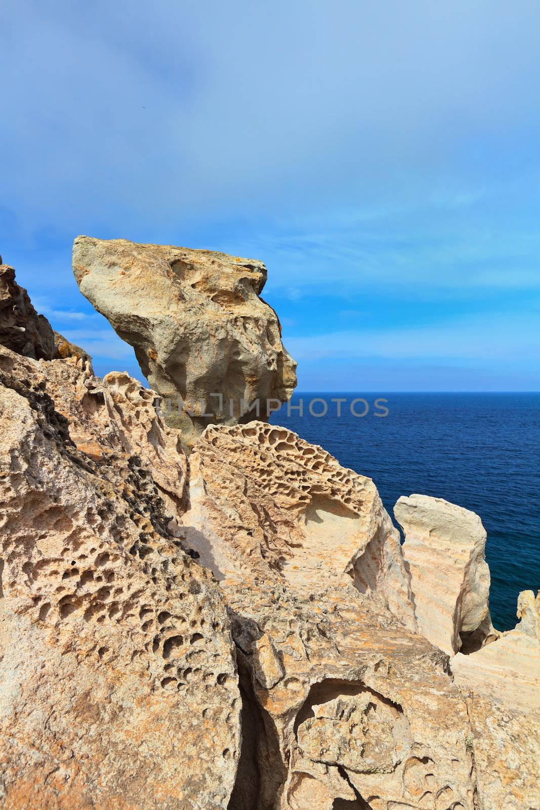
[[[328,403],[325,416],[308,411]],[[344,398],[341,416],[331,398]],[[369,406],[352,416],[350,403]],[[374,407],[387,400],[388,415]],[[321,445],[343,467],[368,475],[393,516],[400,495],[445,498],[480,515],[487,530],[490,609],[500,630],[516,625],[520,590],[540,587],[540,394],[295,394],[271,417]],[[313,410],[322,411],[322,403]],[[355,410],[366,410],[356,403]]]

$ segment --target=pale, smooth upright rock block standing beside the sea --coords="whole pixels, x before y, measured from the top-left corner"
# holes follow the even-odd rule
[[[426,495],[401,497],[393,514],[405,534],[403,556],[421,632],[450,655],[478,629],[476,646],[496,637],[488,610],[486,531],[478,515]]]

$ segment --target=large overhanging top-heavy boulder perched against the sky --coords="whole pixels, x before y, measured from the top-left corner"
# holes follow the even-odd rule
[[[260,297],[262,262],[77,237],[73,269],[83,295],[134,347],[186,443],[207,424],[266,419],[269,400],[291,397],[296,363]],[[256,401],[259,411],[249,411]]]

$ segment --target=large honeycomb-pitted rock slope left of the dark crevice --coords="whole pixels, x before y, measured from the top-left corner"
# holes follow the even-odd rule
[[[82,359],[2,348],[0,383],[0,804],[227,808],[236,664],[217,586],[179,548],[177,434]]]

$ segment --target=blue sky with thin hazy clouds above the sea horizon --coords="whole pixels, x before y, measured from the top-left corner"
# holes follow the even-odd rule
[[[268,267],[299,390],[540,390],[538,0],[4,0],[0,254],[97,373],[78,234]]]

